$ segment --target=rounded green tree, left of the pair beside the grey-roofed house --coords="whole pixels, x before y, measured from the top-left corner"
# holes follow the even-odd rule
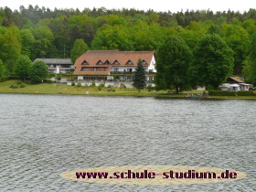
[[[16,75],[21,79],[26,80],[28,77],[28,69],[31,67],[32,62],[27,56],[20,56],[16,60],[15,71]]]

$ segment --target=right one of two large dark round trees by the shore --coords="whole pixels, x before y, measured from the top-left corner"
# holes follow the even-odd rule
[[[217,35],[203,37],[196,50],[190,71],[197,85],[217,89],[232,74],[233,51]]]

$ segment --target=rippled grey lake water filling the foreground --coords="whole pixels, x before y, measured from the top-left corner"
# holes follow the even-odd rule
[[[0,94],[0,190],[255,191],[256,101]],[[189,165],[247,174],[177,186],[93,184],[74,169]]]

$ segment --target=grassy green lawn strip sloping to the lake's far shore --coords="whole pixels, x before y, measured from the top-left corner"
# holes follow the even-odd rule
[[[203,91],[183,91],[179,94],[170,94],[166,91],[148,91],[147,89],[138,92],[133,88],[112,88],[115,91],[109,91],[110,88],[102,88],[101,91],[98,87],[77,87],[70,85],[62,85],[57,83],[40,83],[36,85],[27,85],[25,88],[10,88],[10,85],[16,84],[20,80],[7,80],[0,82],[0,93],[27,93],[27,94],[73,94],[73,95],[85,95],[86,92],[89,95],[112,95],[112,96],[147,96],[147,97],[170,97],[170,98],[187,98],[187,93],[193,92],[194,95],[202,93]],[[19,87],[19,86],[18,86]],[[255,100],[256,96],[208,96],[209,99],[251,99]]]

